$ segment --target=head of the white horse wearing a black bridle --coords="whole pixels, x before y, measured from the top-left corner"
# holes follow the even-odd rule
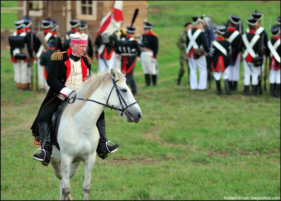
[[[126,83],[125,75],[122,74],[120,70],[116,69],[111,69],[110,74],[113,86],[106,104],[109,107],[112,105],[111,107],[115,107],[114,109],[116,109],[116,105],[118,105],[119,109],[116,109],[116,111],[121,116],[124,116],[127,122],[138,123],[139,120],[142,119],[142,110]],[[117,96],[118,98],[112,98],[111,96]]]

